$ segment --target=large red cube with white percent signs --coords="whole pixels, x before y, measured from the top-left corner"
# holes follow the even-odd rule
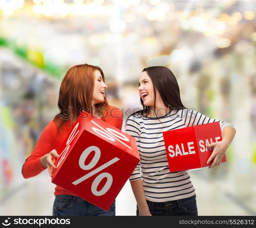
[[[52,183],[106,211],[139,163],[134,137],[85,111],[57,152]]]

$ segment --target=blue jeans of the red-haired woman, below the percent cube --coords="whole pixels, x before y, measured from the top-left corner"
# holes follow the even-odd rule
[[[108,211],[104,211],[100,207],[83,200],[78,196],[57,195],[53,203],[54,216],[69,216],[69,215],[116,215],[116,202],[114,201]]]

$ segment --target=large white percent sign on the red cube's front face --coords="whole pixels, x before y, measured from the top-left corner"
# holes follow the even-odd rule
[[[95,155],[94,155],[93,159],[90,161],[89,164],[85,165],[84,164],[85,160],[87,159],[89,154],[93,151],[95,151]],[[96,146],[90,146],[90,147],[86,148],[83,151],[83,153],[81,154],[81,156],[79,158],[79,166],[82,170],[91,170],[92,168],[95,167],[95,165],[98,163],[99,160],[100,160],[100,148],[98,148]],[[84,181],[84,180],[88,179],[89,177],[106,169],[107,167],[109,167],[111,164],[114,164],[118,160],[120,160],[120,159],[117,157],[111,159],[110,161],[101,165],[100,167],[96,168],[95,170],[92,170],[88,174],[80,177],[78,180],[73,181],[72,184],[73,185],[80,184],[82,181]],[[105,185],[103,186],[103,188],[100,191],[98,191],[97,187],[99,186],[100,181],[103,180],[104,178],[107,178],[107,181],[106,181]],[[113,182],[113,177],[110,173],[106,173],[106,172],[101,173],[93,181],[92,186],[91,186],[91,191],[95,196],[102,196],[110,189],[112,182]]]

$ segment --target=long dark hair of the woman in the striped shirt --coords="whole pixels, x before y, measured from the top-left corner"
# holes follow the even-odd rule
[[[180,92],[178,87],[178,82],[173,74],[173,72],[162,66],[148,67],[142,70],[146,71],[150,76],[153,83],[154,90],[154,106],[153,111],[156,113],[156,90],[158,90],[161,99],[166,107],[171,109],[181,109],[186,108],[180,99]],[[132,115],[139,115],[142,117],[147,117],[149,111],[152,107],[145,106],[143,100],[140,98],[140,103],[143,106],[143,110],[135,111]]]

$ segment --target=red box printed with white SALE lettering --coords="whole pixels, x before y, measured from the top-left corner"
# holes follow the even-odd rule
[[[221,141],[222,133],[219,122],[213,122],[163,132],[163,138],[170,172],[176,172],[209,166],[212,150],[206,145]]]

